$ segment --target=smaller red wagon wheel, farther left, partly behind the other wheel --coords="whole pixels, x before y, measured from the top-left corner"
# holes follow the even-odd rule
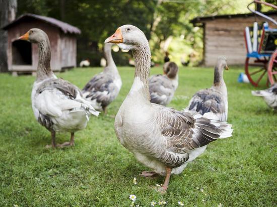
[[[245,74],[247,75],[250,83],[257,87],[260,84],[268,84],[267,75],[267,63],[268,59],[264,57],[263,59],[255,59],[251,61],[249,57],[245,59]]]

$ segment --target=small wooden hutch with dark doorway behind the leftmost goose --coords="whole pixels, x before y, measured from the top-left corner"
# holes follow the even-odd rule
[[[14,75],[18,72],[36,72],[38,64],[38,46],[18,40],[31,28],[43,30],[49,37],[51,45],[51,68],[60,71],[76,67],[77,40],[81,31],[69,24],[50,17],[25,14],[6,25],[8,31],[8,68]]]

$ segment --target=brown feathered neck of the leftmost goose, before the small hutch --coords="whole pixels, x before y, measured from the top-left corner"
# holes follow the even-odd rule
[[[51,60],[51,49],[49,39],[38,43],[38,67],[37,67],[37,80],[43,80],[45,78],[51,77],[53,72],[50,67]]]

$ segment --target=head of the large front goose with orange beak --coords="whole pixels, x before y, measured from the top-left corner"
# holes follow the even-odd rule
[[[148,44],[143,31],[133,25],[123,25],[105,40],[105,43],[116,43],[123,50],[133,50]]]

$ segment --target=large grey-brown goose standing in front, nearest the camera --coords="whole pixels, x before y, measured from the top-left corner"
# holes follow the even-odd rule
[[[232,125],[211,119],[210,114],[191,115],[150,102],[151,52],[145,34],[137,27],[123,25],[105,43],[132,50],[135,61],[133,84],[115,117],[116,136],[138,161],[153,170],[141,175],[166,176],[157,189],[165,193],[170,175],[181,173],[210,142],[232,136]]]

